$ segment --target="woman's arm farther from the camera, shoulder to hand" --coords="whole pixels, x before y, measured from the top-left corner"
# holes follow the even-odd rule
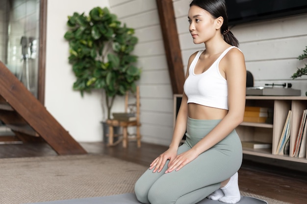
[[[186,71],[185,79],[189,76],[189,67],[194,59],[197,52],[192,54],[189,58],[188,62],[188,68]],[[187,96],[185,95],[184,91],[182,94],[181,104],[179,108],[179,112],[177,114],[173,138],[171,141],[171,144],[169,146],[169,149],[166,150],[164,153],[162,153],[159,157],[153,160],[153,162],[150,165],[149,169],[153,169],[154,172],[160,172],[162,168],[164,167],[167,160],[172,160],[177,156],[177,150],[179,147],[179,144],[182,140],[182,137],[185,134],[186,131],[186,123],[187,123],[187,117],[188,117],[188,105],[187,105]]]

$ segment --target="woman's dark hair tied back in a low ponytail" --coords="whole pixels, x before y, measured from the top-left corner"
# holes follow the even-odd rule
[[[220,16],[223,17],[224,23],[221,26],[221,34],[224,37],[224,41],[232,46],[239,45],[239,41],[228,28],[228,16],[225,0],[192,0],[190,7],[193,5],[206,10],[216,19]]]

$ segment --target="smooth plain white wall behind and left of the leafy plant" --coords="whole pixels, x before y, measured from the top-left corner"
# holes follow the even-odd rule
[[[64,39],[67,17],[88,13],[108,0],[48,0],[45,106],[77,141],[102,140],[101,95],[81,98],[73,91],[75,76],[68,63],[69,45]]]

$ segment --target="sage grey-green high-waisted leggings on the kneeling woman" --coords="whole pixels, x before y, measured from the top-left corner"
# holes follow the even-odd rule
[[[220,121],[188,118],[186,141],[178,154],[191,149]],[[234,130],[179,171],[165,174],[168,161],[160,173],[148,169],[136,181],[135,195],[143,204],[196,204],[219,189],[241,163],[242,145]]]

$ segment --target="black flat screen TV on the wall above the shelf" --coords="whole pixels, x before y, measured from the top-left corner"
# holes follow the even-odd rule
[[[307,0],[226,0],[229,24],[307,13]]]

